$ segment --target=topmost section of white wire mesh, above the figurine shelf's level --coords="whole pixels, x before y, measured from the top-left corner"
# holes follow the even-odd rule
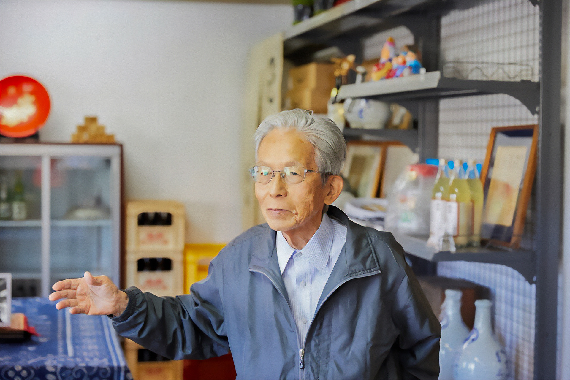
[[[538,7],[501,0],[451,12],[441,20],[441,56],[444,73],[455,65],[450,76],[461,79],[538,81]]]

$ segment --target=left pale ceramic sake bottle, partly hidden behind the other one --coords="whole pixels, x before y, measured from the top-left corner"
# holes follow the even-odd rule
[[[461,318],[461,291],[447,289],[441,310],[441,340],[439,341],[439,379],[453,379],[455,357],[461,353],[469,329]]]

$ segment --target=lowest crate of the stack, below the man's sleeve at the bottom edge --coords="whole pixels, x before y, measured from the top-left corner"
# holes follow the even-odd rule
[[[134,380],[182,380],[184,378],[184,361],[139,361],[139,350],[143,346],[125,339],[125,359],[133,374]]]

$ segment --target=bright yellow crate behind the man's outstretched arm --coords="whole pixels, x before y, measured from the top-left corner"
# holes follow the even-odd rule
[[[190,285],[208,275],[211,259],[226,244],[186,244],[184,247],[184,293],[190,293]]]

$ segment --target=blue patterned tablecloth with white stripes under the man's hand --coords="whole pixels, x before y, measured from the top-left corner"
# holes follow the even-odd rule
[[[0,345],[0,379],[132,379],[107,316],[71,315],[55,302],[12,300],[40,334],[23,343]]]

